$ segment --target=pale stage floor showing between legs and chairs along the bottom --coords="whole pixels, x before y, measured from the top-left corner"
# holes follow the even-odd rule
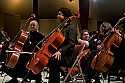
[[[1,73],[1,71],[0,71]],[[0,83],[5,83],[9,80],[11,80],[12,78],[10,76],[8,76],[6,73],[0,74]],[[42,79],[42,83],[48,83],[48,77],[49,73],[47,73],[47,71],[43,71],[41,72],[41,79]],[[78,76],[75,76],[74,78],[78,78]],[[116,76],[111,76],[110,77],[112,80],[116,78]],[[122,77],[120,77],[122,79]],[[22,78],[18,78],[19,83],[22,81]],[[92,80],[94,81],[94,79]],[[35,80],[31,80],[31,82],[24,82],[24,83],[35,83]],[[62,83],[62,82],[61,82]],[[74,82],[69,81],[68,83],[83,83],[83,80],[80,78],[78,80],[74,79]],[[108,80],[105,79],[104,81],[101,80],[101,83],[108,83]],[[123,83],[122,81],[110,81],[110,83]]]

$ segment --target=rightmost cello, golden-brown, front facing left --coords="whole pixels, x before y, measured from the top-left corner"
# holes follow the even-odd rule
[[[115,27],[124,20],[125,17],[119,19]],[[116,32],[108,32],[108,36],[103,40],[103,48],[99,51],[92,60],[91,67],[98,72],[107,72],[113,64],[114,61],[114,51],[113,48],[119,48],[122,41],[120,34]]]

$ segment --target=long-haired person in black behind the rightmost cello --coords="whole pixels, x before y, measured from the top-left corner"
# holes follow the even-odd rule
[[[102,46],[100,45],[101,42],[106,37],[106,33],[112,29],[112,26],[108,22],[103,22],[100,26],[100,33],[98,33],[96,36],[94,36],[91,40],[93,43],[89,44],[90,46],[93,45],[93,49],[91,50],[91,54],[87,60],[87,65],[85,67],[85,71],[83,72],[86,83],[91,83],[91,79],[94,77],[95,81],[94,83],[101,83],[99,78],[99,73],[95,73],[96,71],[91,68],[91,61],[93,57],[96,55],[96,53],[101,50]],[[84,34],[83,34],[84,35]]]

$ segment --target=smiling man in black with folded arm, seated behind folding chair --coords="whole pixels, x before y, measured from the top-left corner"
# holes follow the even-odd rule
[[[93,51],[94,49],[96,49],[96,46],[97,46],[97,39],[95,38],[96,36],[98,35],[97,32],[95,32],[94,34],[92,34],[90,36],[90,33],[88,30],[84,29],[82,30],[82,33],[81,33],[81,37],[80,39],[78,40],[78,44],[85,44],[85,47],[83,49],[83,51],[85,51],[86,49],[89,49],[90,52],[89,54],[85,55],[84,57],[81,58],[81,68],[82,68],[82,72],[83,74],[85,75],[85,80],[86,80],[86,83],[90,83],[90,80],[89,79],[92,79],[91,76],[88,77],[88,73],[84,73],[86,71],[86,69],[88,68],[88,59],[89,59],[89,56],[90,56],[90,53],[91,51]]]

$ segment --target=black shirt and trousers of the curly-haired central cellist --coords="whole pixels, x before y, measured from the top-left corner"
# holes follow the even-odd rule
[[[77,43],[76,28],[71,24],[67,24],[64,26],[62,33],[65,36],[65,40],[58,48],[61,52],[61,60],[57,60],[54,57],[49,59],[49,83],[60,83],[60,67],[71,67],[76,59],[76,52],[74,49]]]

